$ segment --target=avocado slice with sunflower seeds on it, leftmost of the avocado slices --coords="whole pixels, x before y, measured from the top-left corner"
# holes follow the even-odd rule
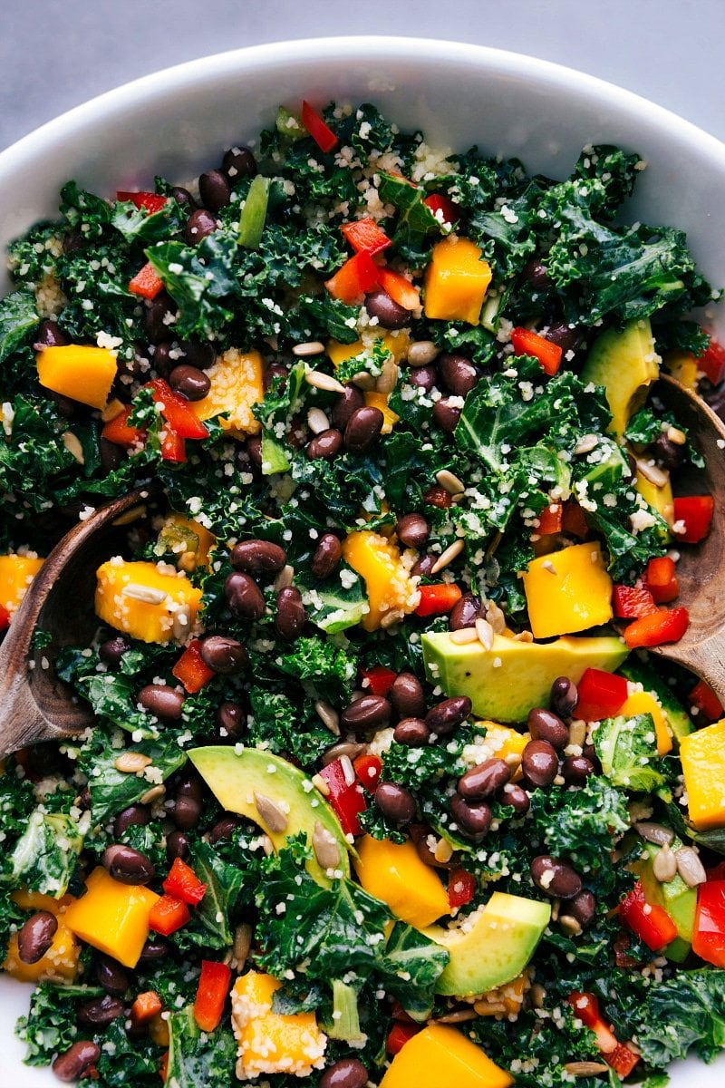
[[[238,813],[253,820],[268,834],[275,850],[284,846],[288,836],[304,832],[313,856],[308,862],[308,873],[318,885],[330,883],[329,868],[317,861],[315,839],[322,834],[330,856],[335,848],[339,861],[334,865],[343,876],[350,875],[350,849],[339,820],[308,776],[271,752],[220,745],[192,749],[189,759],[197,768],[218,803],[230,813]],[[260,801],[260,798],[262,799]],[[283,814],[284,829],[274,830],[275,812],[266,806],[272,802]]]

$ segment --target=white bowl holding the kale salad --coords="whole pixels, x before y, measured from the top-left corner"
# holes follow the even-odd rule
[[[617,144],[648,163],[630,221],[687,232],[701,271],[725,284],[725,145],[666,110],[600,79],[529,57],[415,38],[326,38],[257,46],[137,79],[71,110],[0,154],[0,246],[58,209],[70,178],[103,195],[183,183],[222,149],[274,122],[279,103],[372,101],[429,144],[518,156],[529,172],[564,176],[586,144]],[[10,284],[0,273],[0,293]],[[725,333],[725,313],[710,324]],[[14,1019],[28,989],[0,979],[0,1084],[58,1085],[22,1065]],[[722,1084],[714,1066],[679,1065],[673,1088]]]

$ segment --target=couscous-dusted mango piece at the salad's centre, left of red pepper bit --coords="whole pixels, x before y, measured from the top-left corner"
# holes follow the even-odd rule
[[[370,610],[363,616],[366,631],[377,631],[384,617],[400,617],[417,608],[421,595],[403,566],[395,544],[368,529],[350,533],[342,542],[342,558],[365,580]]]

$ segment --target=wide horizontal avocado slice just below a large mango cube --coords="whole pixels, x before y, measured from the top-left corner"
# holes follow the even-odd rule
[[[495,721],[524,721],[533,706],[548,706],[558,677],[578,683],[591,667],[614,672],[627,656],[617,635],[553,642],[517,642],[495,635],[490,650],[480,642],[457,643],[448,631],[423,635],[428,680],[447,695],[467,695],[473,713]]]

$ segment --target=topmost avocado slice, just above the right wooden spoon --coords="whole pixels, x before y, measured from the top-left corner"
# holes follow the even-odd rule
[[[608,329],[595,341],[582,380],[604,387],[612,412],[609,430],[621,437],[659,374],[660,357],[654,349],[652,327],[647,318],[641,318],[630,321],[622,331]]]

